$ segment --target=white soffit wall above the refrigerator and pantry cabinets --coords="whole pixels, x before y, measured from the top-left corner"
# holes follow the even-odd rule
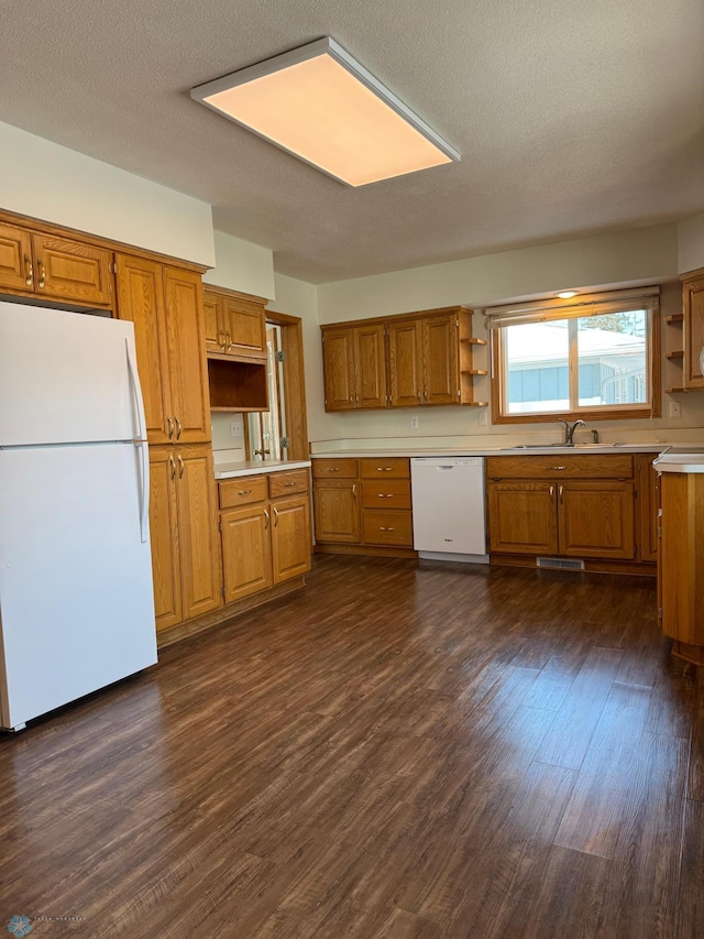
[[[0,206],[172,258],[216,263],[206,203],[6,123]]]

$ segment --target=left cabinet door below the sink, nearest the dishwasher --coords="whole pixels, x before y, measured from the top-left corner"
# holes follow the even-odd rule
[[[556,489],[551,482],[490,482],[490,549],[506,554],[557,554]]]

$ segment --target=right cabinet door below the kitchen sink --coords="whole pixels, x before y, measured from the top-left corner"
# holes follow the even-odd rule
[[[558,483],[560,554],[632,559],[636,556],[632,482]]]

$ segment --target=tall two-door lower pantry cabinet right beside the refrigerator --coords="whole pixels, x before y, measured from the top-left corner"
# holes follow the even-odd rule
[[[150,449],[156,629],[218,609],[220,548],[209,445]]]

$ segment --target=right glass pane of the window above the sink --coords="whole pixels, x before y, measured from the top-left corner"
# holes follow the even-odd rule
[[[645,404],[647,313],[609,313],[578,320],[580,407]]]

